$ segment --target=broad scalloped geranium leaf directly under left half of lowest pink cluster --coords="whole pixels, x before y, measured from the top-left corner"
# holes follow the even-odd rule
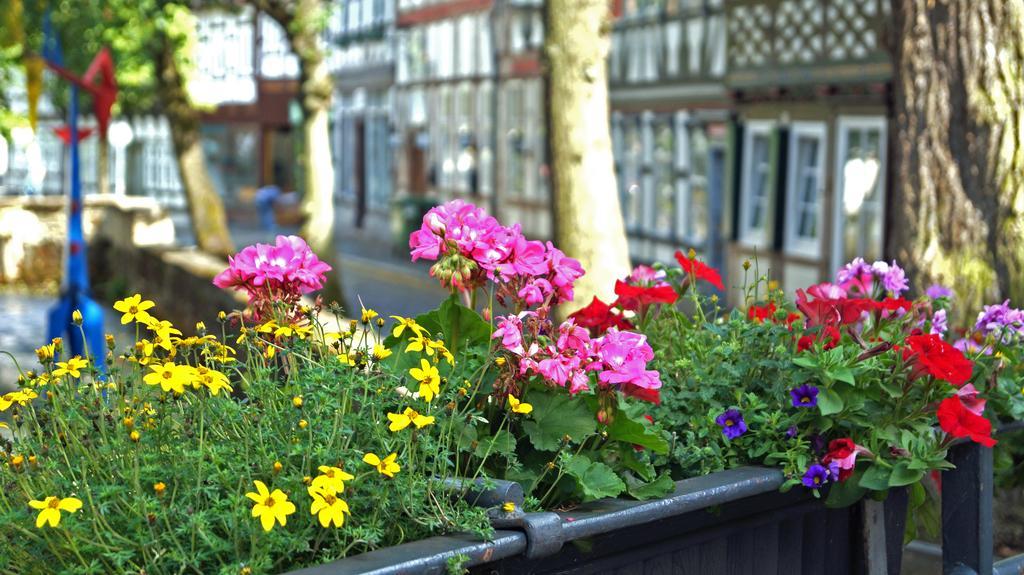
[[[585,402],[570,397],[564,390],[532,388],[528,396],[534,406],[532,418],[522,427],[534,447],[555,451],[566,435],[579,442],[597,431],[594,412]]]

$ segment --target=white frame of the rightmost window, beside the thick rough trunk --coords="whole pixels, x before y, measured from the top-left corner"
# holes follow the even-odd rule
[[[878,130],[879,131],[879,218],[882,225],[882,246],[886,245],[886,195],[889,190],[886,188],[886,165],[888,163],[888,121],[885,116],[840,116],[836,121],[836,182],[835,193],[833,194],[833,247],[831,247],[831,267],[839,269],[845,264],[843,261],[843,226],[845,216],[843,214],[843,191],[845,182],[843,162],[846,158],[849,146],[849,131],[854,130]]]

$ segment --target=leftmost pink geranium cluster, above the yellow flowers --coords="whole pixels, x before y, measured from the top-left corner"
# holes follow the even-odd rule
[[[227,258],[227,269],[214,285],[245,291],[250,304],[298,301],[299,296],[324,286],[331,266],[322,262],[304,239],[279,235],[275,244],[256,244]]]

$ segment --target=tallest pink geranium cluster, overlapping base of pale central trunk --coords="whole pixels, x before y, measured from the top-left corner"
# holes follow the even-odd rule
[[[572,284],[584,274],[580,262],[550,241],[526,239],[518,224],[503,226],[461,200],[430,210],[409,247],[413,261],[438,261],[430,273],[442,285],[470,292],[489,279],[500,286],[500,301],[525,306],[571,301]]]

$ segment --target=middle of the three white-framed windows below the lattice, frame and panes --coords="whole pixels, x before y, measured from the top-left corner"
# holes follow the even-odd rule
[[[788,157],[785,249],[787,252],[817,258],[821,255],[824,124],[794,124],[790,135]]]

